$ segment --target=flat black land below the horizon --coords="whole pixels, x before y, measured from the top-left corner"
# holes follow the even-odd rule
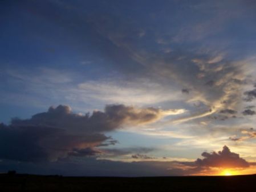
[[[220,177],[59,177],[0,174],[0,191],[256,191],[256,175]]]

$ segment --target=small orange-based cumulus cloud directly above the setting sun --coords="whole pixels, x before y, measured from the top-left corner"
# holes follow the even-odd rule
[[[233,153],[225,145],[222,151],[219,152],[204,152],[204,158],[198,158],[194,163],[197,166],[213,167],[213,168],[246,168],[249,163],[239,157],[237,153]]]

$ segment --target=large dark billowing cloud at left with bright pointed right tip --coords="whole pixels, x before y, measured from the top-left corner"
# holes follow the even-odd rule
[[[97,147],[114,145],[104,133],[124,126],[153,123],[179,110],[108,105],[92,115],[75,114],[69,106],[50,107],[30,119],[13,119],[0,126],[0,158],[19,161],[55,161],[67,156],[101,153]]]

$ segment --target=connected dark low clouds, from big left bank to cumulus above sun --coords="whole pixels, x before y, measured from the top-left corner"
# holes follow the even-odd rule
[[[143,124],[161,116],[156,108],[109,105],[92,115],[74,114],[68,106],[50,107],[30,119],[0,124],[0,170],[71,176],[170,176],[198,174],[212,167],[246,168],[250,164],[224,146],[204,152],[194,162],[165,161],[145,155],[152,148],[100,148],[115,145],[104,133],[126,124]],[[97,159],[129,155],[134,162]]]

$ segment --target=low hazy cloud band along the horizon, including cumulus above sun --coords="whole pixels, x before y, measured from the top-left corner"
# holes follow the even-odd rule
[[[87,150],[87,149],[84,149]],[[127,150],[130,151],[130,150]],[[139,151],[147,151],[139,149]],[[88,153],[88,152],[86,152]],[[111,161],[96,159],[94,156],[84,156],[83,161],[79,155],[60,159],[56,162],[17,162],[3,160],[0,162],[1,172],[15,169],[18,173],[33,174],[63,174],[64,176],[188,176],[198,174],[220,174],[214,168],[248,168],[254,163],[249,163],[239,157],[237,153],[229,151],[224,146],[220,152],[202,153],[203,160],[188,161],[157,161],[153,157],[136,153],[132,155],[134,161]],[[75,157],[75,158],[74,158]],[[137,161],[139,160],[139,161]],[[229,164],[226,164],[229,161]]]

